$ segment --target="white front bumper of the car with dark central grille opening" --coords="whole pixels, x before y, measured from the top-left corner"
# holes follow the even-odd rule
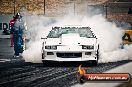
[[[87,51],[87,52],[51,52],[51,55],[48,52],[44,52],[42,54],[42,61],[89,61],[89,60],[97,60],[97,55],[95,51]],[[91,54],[86,54],[91,53]]]

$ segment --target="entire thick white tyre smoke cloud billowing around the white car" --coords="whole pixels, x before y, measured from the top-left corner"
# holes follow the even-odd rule
[[[89,26],[94,31],[100,44],[99,62],[114,62],[119,60],[132,59],[132,45],[120,48],[122,43],[122,29],[116,27],[112,22],[108,22],[101,14],[94,16],[67,16],[56,20],[43,17],[29,17],[28,35],[31,41],[28,49],[24,51],[23,57],[26,62],[41,62],[41,37],[45,37],[52,26],[82,25]]]

